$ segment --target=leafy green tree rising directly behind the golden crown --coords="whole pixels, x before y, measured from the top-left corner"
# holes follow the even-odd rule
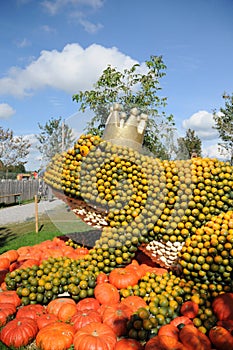
[[[161,139],[168,134],[174,121],[172,115],[166,116],[163,110],[160,111],[167,104],[166,97],[157,95],[161,90],[159,80],[165,75],[166,69],[162,57],[151,56],[145,65],[145,74],[139,72],[139,64],[125,69],[123,73],[109,65],[94,84],[93,90],[79,91],[73,100],[80,104],[80,111],[85,112],[89,107],[94,112],[85,130],[100,136],[113,103],[121,104],[127,115],[131,108],[137,107],[140,113],[149,116],[143,146],[158,155],[159,149],[164,149]]]

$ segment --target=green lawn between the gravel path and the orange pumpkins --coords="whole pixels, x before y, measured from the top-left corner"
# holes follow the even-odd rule
[[[90,230],[90,226],[72,212],[68,212],[65,206],[58,206],[39,216],[38,228],[38,233],[36,233],[35,219],[0,227],[0,254],[10,249],[32,246],[68,233]]]

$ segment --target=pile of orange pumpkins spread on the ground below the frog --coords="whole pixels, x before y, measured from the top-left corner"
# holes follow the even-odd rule
[[[34,247],[22,247],[18,251],[2,254],[0,266],[8,259],[5,270],[30,271],[33,266],[40,266],[40,259],[44,259],[45,255],[42,257],[38,254],[40,259],[37,265],[31,265],[33,255],[29,251],[35,257],[36,251],[42,254],[43,250],[44,254],[49,254],[49,247],[52,256],[62,256],[65,251],[70,254],[73,252],[72,258],[80,261],[84,261],[83,256],[88,251],[86,248],[67,247],[65,242],[55,238]],[[27,261],[30,267],[25,267]],[[127,288],[130,290],[143,276],[164,276],[166,273],[165,269],[133,260],[124,268],[113,269],[108,275],[97,272],[92,297],[75,301],[68,294],[61,295],[50,300],[47,305],[37,302],[22,305],[17,292],[7,290],[6,284],[2,282],[0,341],[9,349],[27,349],[27,346],[32,345],[33,349],[41,350],[233,349],[233,293],[222,293],[212,300],[211,308],[216,322],[206,333],[193,322],[201,305],[187,300],[182,302],[175,318],[167,324],[158,325],[156,334],[148,332],[150,336],[142,339],[140,331],[135,335],[137,327],[139,329],[142,323],[148,324],[151,318],[149,307],[145,297],[123,297],[121,291]],[[130,328],[132,324],[133,329]]]

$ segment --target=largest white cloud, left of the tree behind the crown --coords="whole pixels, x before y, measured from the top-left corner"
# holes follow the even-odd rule
[[[123,70],[135,63],[115,47],[93,44],[84,49],[67,44],[62,51],[41,51],[24,69],[12,67],[8,76],[0,79],[0,94],[23,97],[45,87],[74,94],[92,88],[109,64]]]

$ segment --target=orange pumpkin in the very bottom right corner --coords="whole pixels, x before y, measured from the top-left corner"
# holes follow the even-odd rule
[[[233,349],[233,336],[227,329],[221,326],[211,328],[209,338],[217,350]]]

